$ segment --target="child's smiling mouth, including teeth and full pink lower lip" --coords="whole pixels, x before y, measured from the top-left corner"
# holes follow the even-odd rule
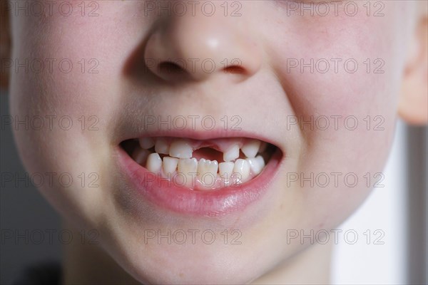
[[[210,217],[259,200],[283,156],[279,147],[255,138],[168,136],[124,140],[118,155],[130,189],[145,200]]]

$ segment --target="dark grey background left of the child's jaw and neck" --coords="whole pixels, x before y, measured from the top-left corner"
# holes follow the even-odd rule
[[[1,123],[9,115],[8,99],[0,92]],[[9,173],[25,177],[25,170],[10,125],[0,124],[0,132],[0,284],[11,284],[26,265],[61,258],[61,220],[31,183],[4,181]]]

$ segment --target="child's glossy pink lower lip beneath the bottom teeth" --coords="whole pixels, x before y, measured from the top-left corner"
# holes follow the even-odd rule
[[[180,187],[174,185],[173,182],[161,179],[158,175],[138,165],[121,147],[118,147],[118,158],[133,189],[142,195],[143,199],[158,207],[180,214],[219,217],[243,212],[250,204],[260,201],[275,177],[281,152],[277,149],[270,157],[263,172],[253,180],[241,185],[205,192]]]

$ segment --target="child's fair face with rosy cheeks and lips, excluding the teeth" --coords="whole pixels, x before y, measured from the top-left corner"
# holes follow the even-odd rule
[[[411,4],[214,1],[205,16],[210,4],[192,11],[181,1],[178,16],[183,5],[159,15],[157,1],[84,10],[73,1],[51,12],[47,2],[45,16],[11,16],[12,57],[30,61],[28,73],[11,72],[11,113],[30,123],[15,131],[19,151],[30,172],[56,173],[43,194],[79,227],[98,229],[139,281],[249,282],[310,244],[296,231],[337,227],[381,180]],[[155,67],[168,58],[185,61],[187,75]],[[240,68],[224,69],[237,58]],[[170,123],[158,126],[159,116]],[[229,190],[158,188],[121,144],[148,136],[257,138],[276,154]]]

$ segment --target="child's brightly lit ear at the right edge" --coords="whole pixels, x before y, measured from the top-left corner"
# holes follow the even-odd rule
[[[398,113],[412,125],[428,123],[428,11],[427,1],[420,1],[417,9],[414,49],[404,71]]]

